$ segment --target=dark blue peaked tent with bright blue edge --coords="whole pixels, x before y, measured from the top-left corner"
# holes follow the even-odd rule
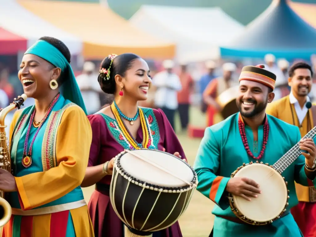
[[[274,0],[233,42],[221,47],[223,58],[276,58],[310,60],[316,53],[316,29],[303,21],[288,5]]]

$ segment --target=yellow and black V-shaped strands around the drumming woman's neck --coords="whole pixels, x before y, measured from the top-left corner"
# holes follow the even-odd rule
[[[139,111],[139,118],[143,130],[143,143],[137,143],[137,141],[133,138],[130,131],[127,129],[122,117],[120,116],[119,112],[117,111],[114,103],[111,105],[111,109],[114,115],[114,118],[116,119],[118,129],[120,130],[120,135],[122,138],[126,141],[126,143],[129,145],[130,149],[155,149],[155,146],[152,145],[153,139],[151,136],[151,131],[147,119],[144,116],[143,110],[141,108],[138,108]],[[116,126],[116,125],[115,125]]]

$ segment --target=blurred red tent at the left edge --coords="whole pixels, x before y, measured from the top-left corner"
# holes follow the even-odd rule
[[[27,50],[27,39],[0,27],[0,55],[17,54]]]

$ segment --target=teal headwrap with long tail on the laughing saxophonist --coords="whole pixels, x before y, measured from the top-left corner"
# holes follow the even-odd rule
[[[34,54],[39,56],[40,58],[43,58],[54,66],[60,68],[62,72],[64,72],[68,67],[68,78],[61,86],[59,86],[60,94],[62,94],[65,99],[68,99],[80,106],[87,114],[86,106],[84,105],[74,72],[72,71],[67,59],[57,48],[44,40],[38,40],[35,44],[33,44],[33,46],[28,48],[24,54]]]

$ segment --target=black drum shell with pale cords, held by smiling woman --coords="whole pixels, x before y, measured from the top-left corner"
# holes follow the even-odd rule
[[[132,183],[113,169],[110,198],[113,209],[125,225],[155,232],[173,225],[186,210],[193,191],[155,191]]]

